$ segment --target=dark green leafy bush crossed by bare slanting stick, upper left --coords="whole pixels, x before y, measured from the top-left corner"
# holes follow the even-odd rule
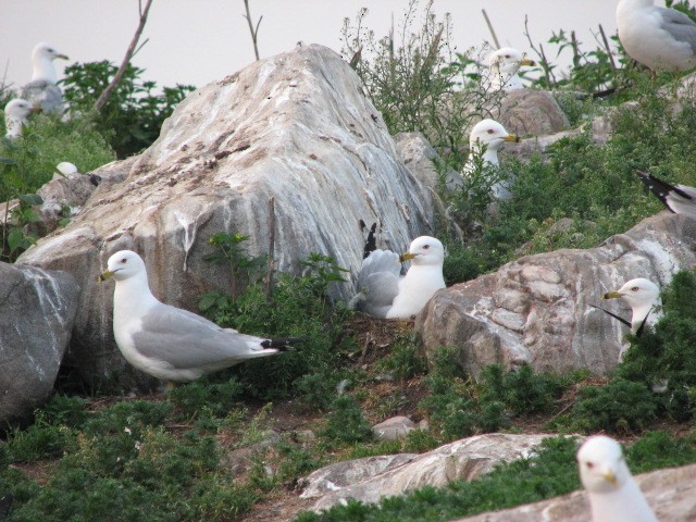
[[[91,114],[100,133],[109,137],[119,158],[150,146],[174,107],[194,87],[164,87],[157,94],[154,82],[141,80],[142,69],[128,64],[116,88],[98,114],[94,107],[119,67],[108,61],[74,63],[65,67],[61,82],[72,113]]]

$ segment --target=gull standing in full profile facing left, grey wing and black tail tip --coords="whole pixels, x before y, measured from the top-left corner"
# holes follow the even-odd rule
[[[222,328],[200,315],[160,302],[150,291],[145,262],[121,250],[109,258],[100,281],[113,277],[113,333],[119,349],[138,370],[165,381],[187,382],[248,359],[278,353],[297,339],[269,339]]]

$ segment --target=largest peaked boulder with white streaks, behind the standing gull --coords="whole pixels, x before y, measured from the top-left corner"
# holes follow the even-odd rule
[[[330,49],[308,46],[191,92],[123,183],[98,189],[20,262],[77,277],[70,360],[84,375],[113,372],[123,382],[130,370],[123,373],[111,331],[113,285],[95,282],[109,256],[138,251],[154,295],[197,311],[203,293],[231,288],[229,271],[203,260],[208,238],[241,233],[250,256],[268,252],[271,198],[275,266],[286,272],[321,252],[355,274],[360,220],[380,222],[380,247],[401,251],[433,233],[436,214],[436,196],[399,161],[355,71]],[[334,293],[349,297],[351,288]]]

